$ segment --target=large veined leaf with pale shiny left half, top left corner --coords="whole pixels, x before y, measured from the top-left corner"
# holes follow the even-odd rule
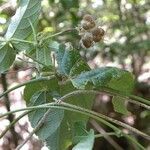
[[[19,8],[16,14],[11,18],[8,30],[6,32],[6,39],[18,38],[25,39],[31,32],[31,25],[37,24],[37,18],[41,10],[41,0],[20,0]]]

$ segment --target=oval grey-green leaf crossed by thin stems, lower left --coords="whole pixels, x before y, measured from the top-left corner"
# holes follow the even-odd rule
[[[39,91],[36,92],[31,100],[29,106],[38,106],[45,104],[47,101],[52,99],[49,92]],[[33,128],[36,127],[40,119],[44,116],[48,109],[39,109],[29,113],[29,121]],[[53,135],[59,128],[64,117],[64,111],[60,109],[51,109],[48,117],[46,118],[44,125],[36,132],[40,139],[45,140],[49,136]]]

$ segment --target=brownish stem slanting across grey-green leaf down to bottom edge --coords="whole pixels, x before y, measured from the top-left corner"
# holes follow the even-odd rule
[[[49,115],[50,111],[51,111],[51,109],[47,110],[47,112],[43,115],[41,120],[38,122],[37,126],[28,135],[28,137],[20,145],[17,146],[16,150],[20,150],[28,142],[28,140],[30,140],[30,138],[33,136],[33,134],[35,134],[41,128],[41,126],[45,123],[45,119]]]

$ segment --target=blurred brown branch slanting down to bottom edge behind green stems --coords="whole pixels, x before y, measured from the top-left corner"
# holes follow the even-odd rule
[[[116,150],[123,150],[123,148],[118,145],[109,135],[106,134],[106,131],[95,121],[91,120],[90,123],[94,126],[94,128],[101,133],[104,138],[116,149]]]

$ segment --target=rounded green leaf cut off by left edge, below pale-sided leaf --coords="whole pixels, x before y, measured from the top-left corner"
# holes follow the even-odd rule
[[[0,73],[5,72],[13,64],[16,52],[9,44],[0,43]]]

